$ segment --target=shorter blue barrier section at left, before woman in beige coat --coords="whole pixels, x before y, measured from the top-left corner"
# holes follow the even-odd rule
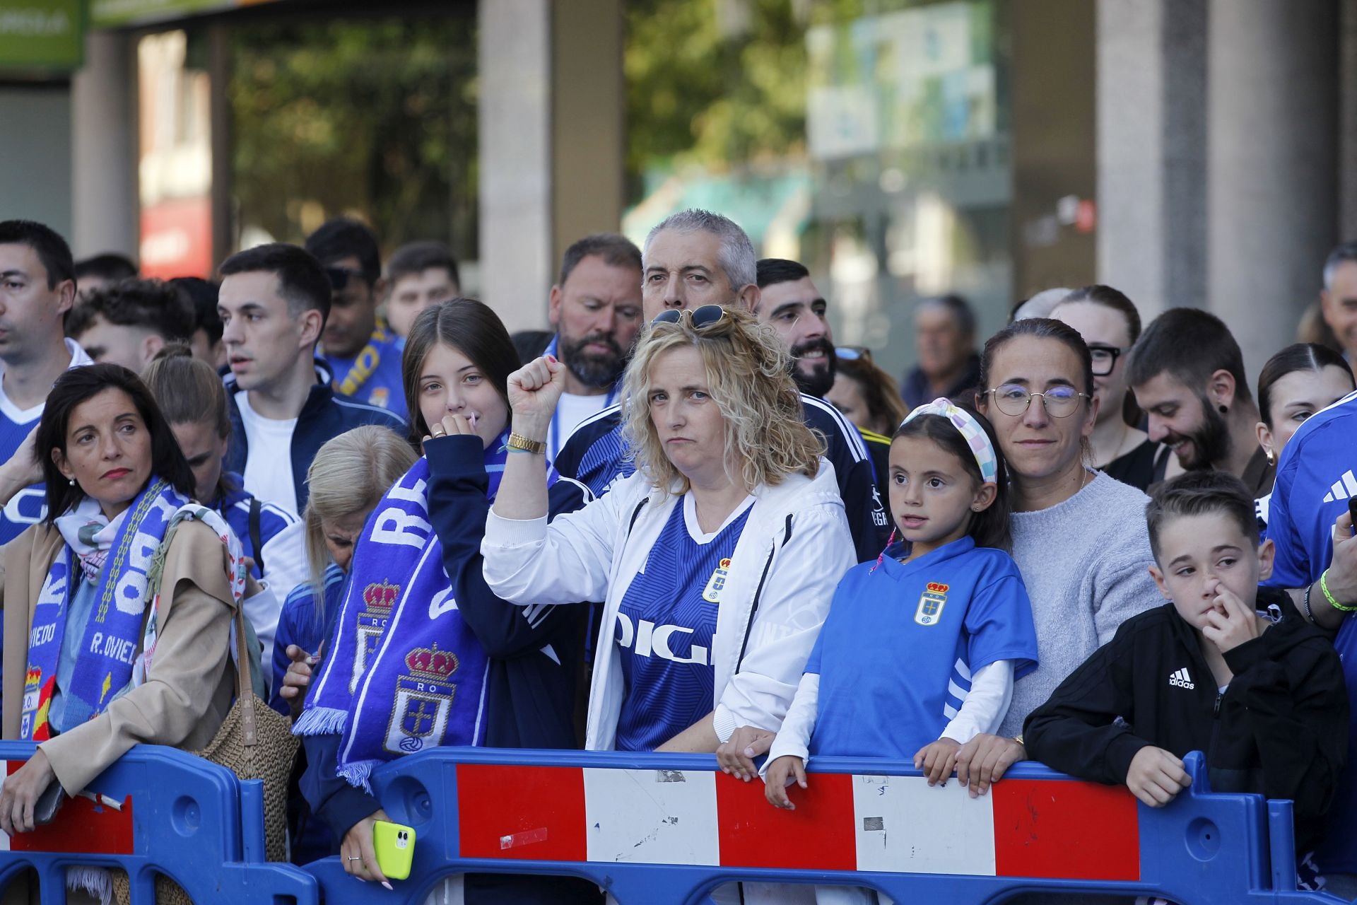
[[[5,773],[27,761],[30,742],[0,742]],[[193,754],[138,745],[91,783],[98,801],[71,798],[52,824],[7,840],[0,889],[26,868],[43,902],[62,902],[68,867],[121,867],[133,905],[155,902],[155,875],[174,879],[197,905],[316,905],[315,881],[265,860],[263,784],[242,783]],[[4,836],[0,834],[0,840]],[[331,900],[343,901],[343,900]]]

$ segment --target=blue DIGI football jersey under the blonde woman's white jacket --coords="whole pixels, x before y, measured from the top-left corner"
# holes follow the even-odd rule
[[[748,497],[721,528],[704,535],[692,494],[685,494],[623,594],[616,643],[626,696],[617,750],[654,750],[711,712],[716,611],[752,505]]]

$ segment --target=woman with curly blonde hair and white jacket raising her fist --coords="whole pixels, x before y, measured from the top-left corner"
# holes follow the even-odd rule
[[[768,750],[843,574],[856,562],[787,353],[742,311],[666,311],[624,376],[638,469],[547,513],[543,440],[562,365],[509,377],[513,434],[484,574],[522,604],[604,601],[585,748]],[[757,730],[750,727],[759,727]]]

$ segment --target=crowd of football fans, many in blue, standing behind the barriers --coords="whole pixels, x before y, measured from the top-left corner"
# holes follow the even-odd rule
[[[897,383],[704,210],[574,243],[517,335],[444,246],[383,267],[354,220],[164,282],[0,223],[0,722],[38,742],[0,829],[133,745],[202,750],[244,658],[301,738],[292,860],[358,881],[388,883],[372,769],[437,746],[704,753],[782,809],[820,756],[1159,807],[1202,750],[1357,901],[1357,246],[1316,275],[1331,345],[1255,385],[1220,319],[1103,285],[978,346],[924,300]]]

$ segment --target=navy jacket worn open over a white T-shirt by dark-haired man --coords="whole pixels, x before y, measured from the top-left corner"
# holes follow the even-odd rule
[[[236,404],[236,376],[229,370],[223,376],[227,385],[227,406],[231,411],[231,446],[227,449],[227,471],[244,474],[250,457],[246,426]],[[297,512],[307,507],[307,469],[316,452],[331,437],[364,425],[391,427],[404,437],[406,422],[385,408],[341,396],[331,387],[330,369],[316,358],[316,384],[297,414],[297,427],[292,431],[292,482],[297,488]]]

